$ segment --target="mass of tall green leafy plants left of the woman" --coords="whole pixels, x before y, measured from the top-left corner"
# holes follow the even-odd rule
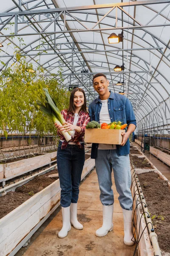
[[[23,38],[18,40],[24,44]],[[45,97],[43,88],[48,88],[60,111],[68,107],[70,92],[60,86],[62,70],[46,79],[45,69],[38,66],[35,70],[33,64],[20,55],[19,48],[16,47],[14,55],[16,61],[11,66],[1,61],[6,68],[0,76],[0,137],[7,138],[9,133],[11,136],[29,134],[31,141],[33,131],[38,137],[45,134],[57,136],[53,122],[39,111],[37,100]]]

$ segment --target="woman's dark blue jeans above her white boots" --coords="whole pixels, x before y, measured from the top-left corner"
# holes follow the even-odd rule
[[[79,183],[85,163],[85,150],[77,145],[69,145],[61,149],[59,141],[57,149],[57,169],[61,187],[61,206],[69,207],[77,203],[79,198]]]

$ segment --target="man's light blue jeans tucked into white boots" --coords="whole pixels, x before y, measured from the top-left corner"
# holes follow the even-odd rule
[[[119,203],[123,209],[132,209],[132,195],[130,191],[131,175],[129,155],[119,156],[116,149],[98,149],[95,159],[96,172],[100,188],[100,200],[103,205],[114,203],[111,172],[113,168],[116,190],[119,193]]]

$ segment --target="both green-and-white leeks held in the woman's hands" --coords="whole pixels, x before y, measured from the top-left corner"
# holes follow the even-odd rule
[[[57,108],[56,102],[54,99],[51,99],[50,94],[48,93],[48,89],[44,88],[45,91],[45,103],[37,101],[37,104],[40,106],[40,110],[45,113],[54,123],[57,125],[63,125],[65,123],[65,119],[62,116],[61,112]],[[61,131],[65,137],[65,140],[71,140],[71,135],[73,131]]]

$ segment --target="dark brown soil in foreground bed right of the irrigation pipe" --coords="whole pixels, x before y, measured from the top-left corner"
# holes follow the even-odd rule
[[[170,188],[155,172],[138,174],[159,247],[170,252]]]

